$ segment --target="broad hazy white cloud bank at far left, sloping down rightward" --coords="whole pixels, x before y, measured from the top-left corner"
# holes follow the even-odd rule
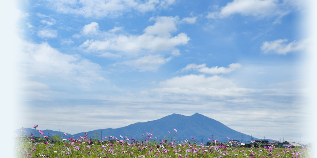
[[[21,67],[26,76],[59,77],[80,83],[105,80],[100,76],[99,64],[81,58],[80,55],[61,53],[48,43],[24,42],[22,50]]]

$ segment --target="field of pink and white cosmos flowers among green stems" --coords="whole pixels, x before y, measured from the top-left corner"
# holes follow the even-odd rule
[[[37,126],[33,126],[36,128]],[[142,134],[141,141],[135,141],[128,137],[119,138],[109,136],[100,138],[98,133],[88,137],[87,133],[83,137],[68,138],[66,133],[45,136],[39,133],[26,135],[24,130],[22,135],[16,135],[16,157],[49,157],[49,158],[124,158],[124,157],[164,157],[164,158],[295,158],[310,157],[310,147],[302,146],[287,148],[276,148],[273,145],[258,147],[251,144],[250,148],[244,143],[233,144],[233,141],[218,142],[210,140],[210,145],[192,143],[191,140],[181,142],[175,141],[174,135],[168,132],[163,138],[154,137],[153,134]],[[37,136],[36,136],[37,135]],[[35,137],[36,136],[36,137]],[[229,139],[229,137],[228,137]],[[172,141],[168,141],[172,140]]]

